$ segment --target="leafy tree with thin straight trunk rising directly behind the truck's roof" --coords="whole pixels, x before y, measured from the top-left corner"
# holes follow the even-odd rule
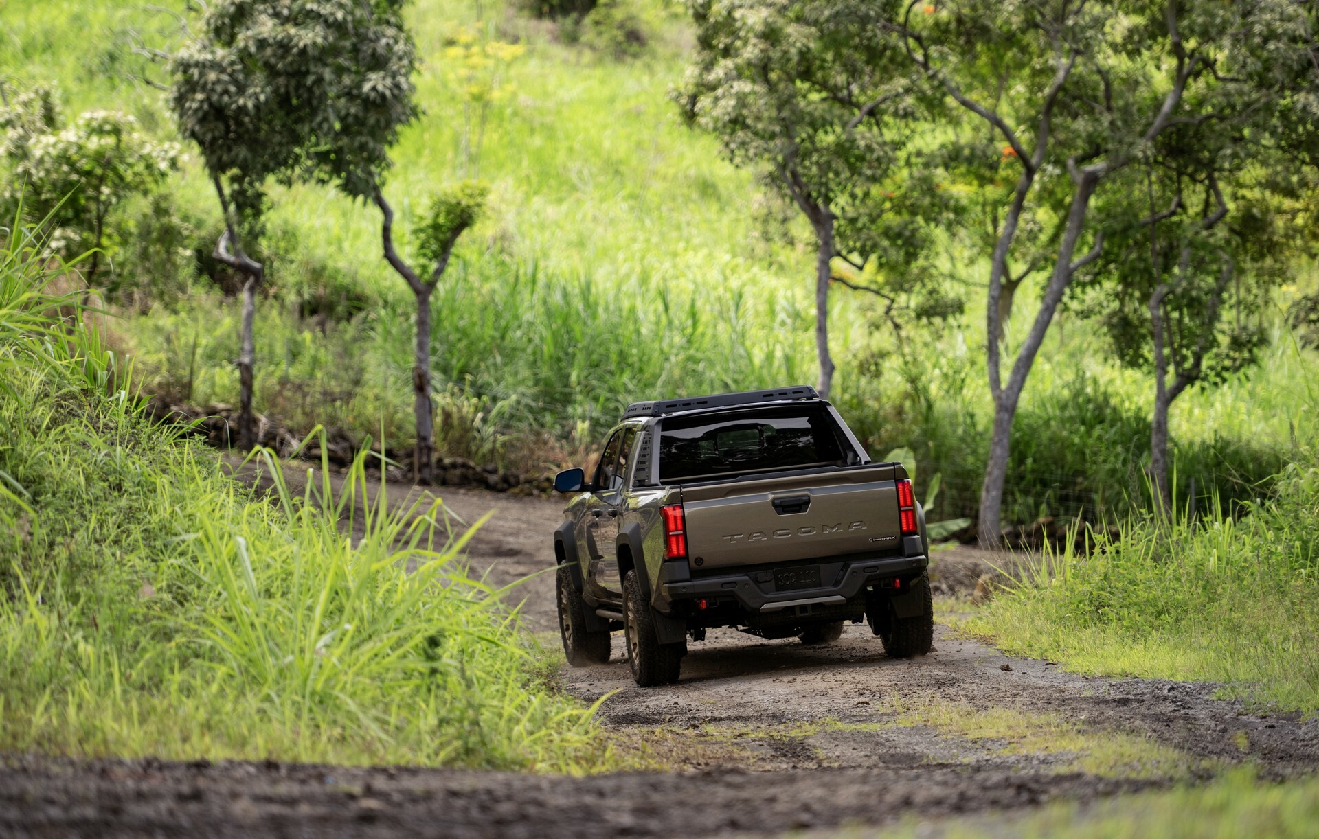
[[[828,342],[835,259],[857,270],[901,266],[902,289],[930,241],[922,224],[942,206],[936,177],[906,154],[921,113],[901,42],[868,0],[689,0],[696,59],[674,99],[685,119],[716,135],[736,164],[769,183],[815,233],[815,348],[820,396],[834,380]],[[892,289],[864,286],[894,301]]]

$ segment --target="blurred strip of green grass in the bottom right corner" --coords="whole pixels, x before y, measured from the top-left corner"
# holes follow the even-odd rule
[[[1248,839],[1314,836],[1319,823],[1319,780],[1291,784],[1260,784],[1249,769],[1229,773],[1204,786],[1122,795],[1082,806],[1054,803],[1025,817],[980,815],[946,822],[909,818],[884,836],[922,839],[979,839],[1020,836],[1043,839]],[[871,831],[844,836],[873,835]]]

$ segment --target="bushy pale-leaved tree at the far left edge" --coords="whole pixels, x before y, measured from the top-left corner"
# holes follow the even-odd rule
[[[47,241],[66,257],[90,252],[86,281],[94,285],[109,214],[160,186],[174,170],[178,144],[153,141],[119,111],[87,111],[66,125],[45,87],[12,100],[0,87],[0,157],[9,162],[0,199],[15,206],[21,197],[36,218],[49,219]]]

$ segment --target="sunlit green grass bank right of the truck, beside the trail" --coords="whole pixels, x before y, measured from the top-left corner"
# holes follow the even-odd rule
[[[1221,682],[1262,710],[1319,711],[1319,454],[1233,518],[1134,521],[1046,554],[963,629],[1076,673]]]

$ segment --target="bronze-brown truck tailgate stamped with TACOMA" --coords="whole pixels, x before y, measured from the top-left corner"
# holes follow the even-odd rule
[[[683,487],[687,557],[700,570],[902,545],[892,463]]]

